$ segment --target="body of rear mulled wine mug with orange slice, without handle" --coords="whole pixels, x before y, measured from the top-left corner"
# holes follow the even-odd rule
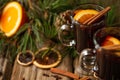
[[[105,27],[106,15],[90,25],[83,23],[103,9],[103,7],[96,4],[83,4],[74,10],[74,27],[76,30],[76,48],[78,52],[85,48],[94,48],[93,35],[98,29]]]

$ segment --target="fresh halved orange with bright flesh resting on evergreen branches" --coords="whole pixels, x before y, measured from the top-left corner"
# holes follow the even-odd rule
[[[22,23],[25,22],[25,11],[20,3],[9,2],[3,9],[0,19],[0,28],[7,37],[14,35]]]

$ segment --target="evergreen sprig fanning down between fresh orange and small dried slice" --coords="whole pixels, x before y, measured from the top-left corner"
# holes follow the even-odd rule
[[[38,43],[42,42],[37,20],[24,24],[12,40],[16,40],[17,53],[26,50],[35,52],[38,48]]]

